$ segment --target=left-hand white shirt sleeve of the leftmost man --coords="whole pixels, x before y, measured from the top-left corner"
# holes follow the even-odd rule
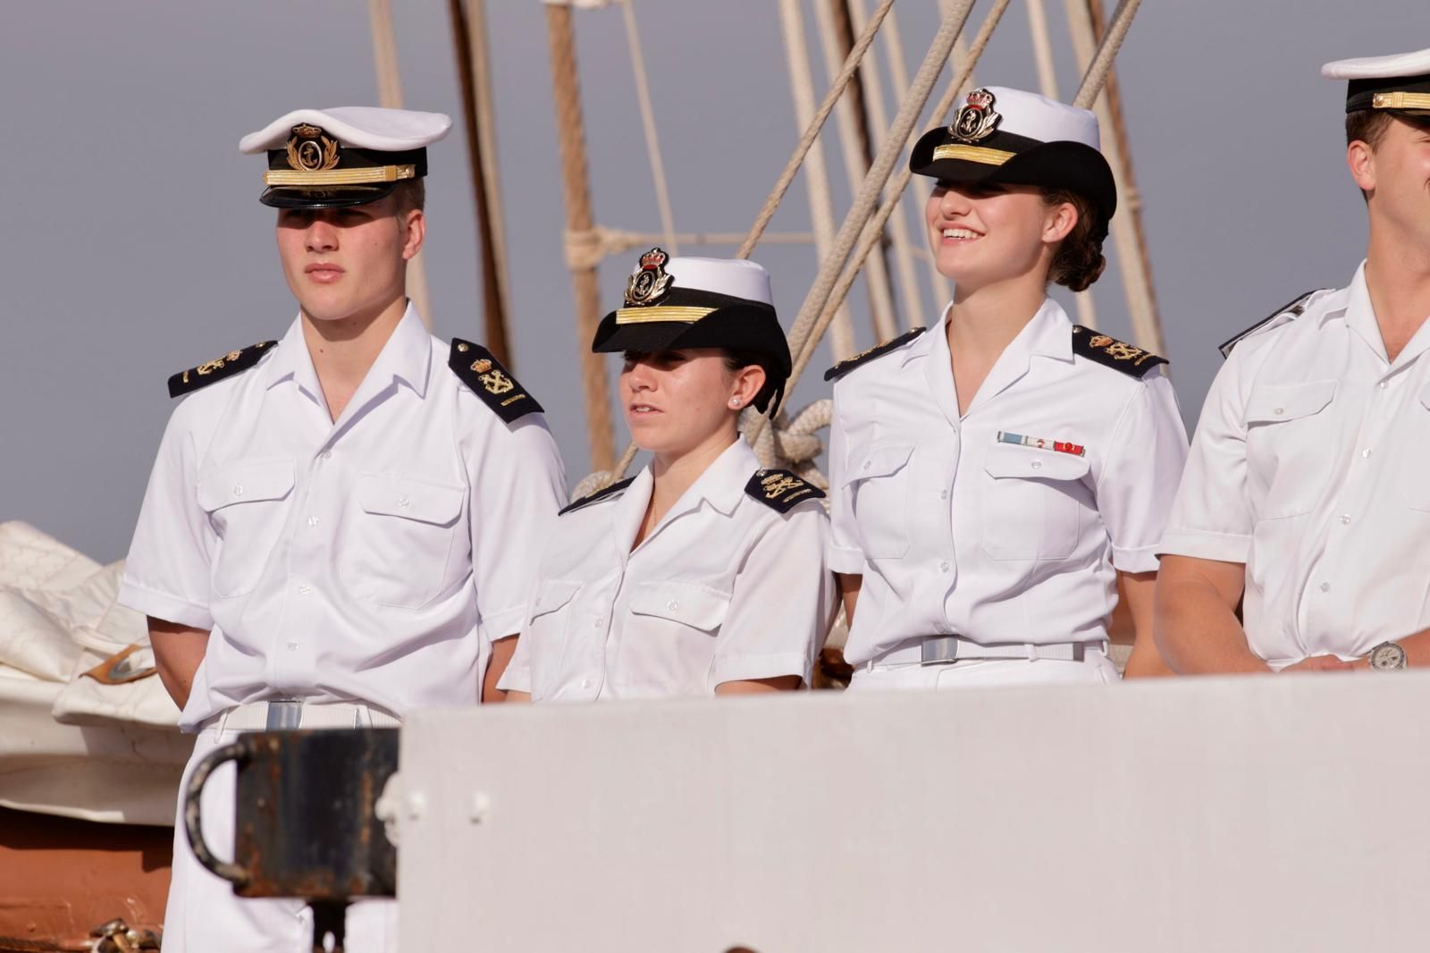
[[[213,628],[209,582],[217,535],[199,507],[193,402],[169,418],[119,585],[119,602],[154,618]]]

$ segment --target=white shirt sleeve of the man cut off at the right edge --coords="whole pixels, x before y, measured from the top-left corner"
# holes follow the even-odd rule
[[[1243,343],[1223,365],[1197,422],[1167,531],[1157,554],[1246,562],[1256,519],[1247,497],[1246,401],[1240,373]]]

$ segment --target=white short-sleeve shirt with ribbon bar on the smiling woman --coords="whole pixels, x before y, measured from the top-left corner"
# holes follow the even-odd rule
[[[1185,459],[1171,382],[1074,353],[1090,332],[1045,299],[960,415],[945,322],[834,386],[829,565],[864,577],[847,660],[1105,640],[1115,571],[1157,568]]]

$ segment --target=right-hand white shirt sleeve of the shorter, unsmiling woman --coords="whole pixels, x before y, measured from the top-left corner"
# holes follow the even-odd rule
[[[749,549],[719,630],[711,690],[726,681],[781,675],[809,683],[834,615],[834,577],[822,558],[828,527],[824,507],[805,504],[774,522]]]

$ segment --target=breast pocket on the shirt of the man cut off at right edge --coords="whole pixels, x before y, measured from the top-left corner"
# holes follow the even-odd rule
[[[1334,422],[1327,408],[1336,381],[1264,385],[1247,399],[1247,466],[1253,487],[1264,492],[1260,519],[1310,512],[1320,497],[1336,454]]]

